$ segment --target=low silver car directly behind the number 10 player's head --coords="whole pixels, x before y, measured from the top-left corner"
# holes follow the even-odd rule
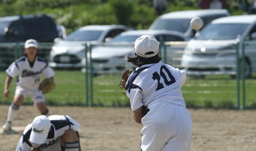
[[[94,73],[118,73],[127,68],[132,68],[132,64],[127,62],[127,57],[134,56],[134,42],[142,35],[152,35],[159,42],[166,41],[186,41],[183,34],[177,31],[166,30],[134,30],[126,31],[115,38],[106,45],[96,45],[92,49],[92,66]],[[160,48],[163,50],[163,48]],[[180,48],[178,48],[180,49]],[[177,48],[176,48],[177,50]],[[184,50],[184,49],[183,49]],[[161,55],[164,55],[164,52]],[[88,53],[87,56],[90,54]],[[174,60],[173,58],[181,58],[182,53],[175,53],[175,48],[171,46],[167,47],[166,62],[171,65],[180,65],[180,60]],[[85,66],[85,58],[82,61]],[[85,69],[82,69],[85,71]]]

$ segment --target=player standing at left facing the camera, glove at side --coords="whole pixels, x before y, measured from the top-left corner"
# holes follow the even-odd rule
[[[9,107],[7,122],[2,127],[3,131],[11,130],[11,123],[28,94],[42,115],[50,115],[45,104],[45,97],[42,91],[38,90],[38,86],[42,75],[53,80],[54,71],[42,58],[37,57],[37,47],[36,40],[27,40],[24,48],[25,55],[13,62],[6,70],[8,74],[4,88],[4,96],[6,98],[10,95],[8,88],[12,79],[19,75],[19,81],[16,83],[14,99]]]

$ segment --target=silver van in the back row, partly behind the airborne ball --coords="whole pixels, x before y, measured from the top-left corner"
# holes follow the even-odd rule
[[[200,17],[203,20],[203,26],[212,20],[220,17],[229,16],[226,9],[202,9],[189,11],[175,11],[160,15],[149,30],[170,30],[179,31],[184,34],[187,39],[191,39],[195,35],[195,30],[191,28],[190,21],[194,17]]]

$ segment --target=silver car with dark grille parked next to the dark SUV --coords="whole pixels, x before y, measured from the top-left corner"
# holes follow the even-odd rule
[[[133,29],[124,25],[83,26],[69,34],[65,40],[55,40],[48,64],[51,67],[58,68],[81,68],[81,60],[85,53],[85,43],[108,42],[117,34]]]

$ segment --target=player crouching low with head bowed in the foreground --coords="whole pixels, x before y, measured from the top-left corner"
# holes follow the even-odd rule
[[[79,128],[69,116],[37,116],[26,126],[16,151],[81,151]]]

